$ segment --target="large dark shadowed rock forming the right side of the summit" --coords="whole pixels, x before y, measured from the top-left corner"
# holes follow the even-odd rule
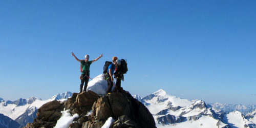
[[[156,127],[150,111],[141,102],[133,98],[129,92],[112,93],[109,95],[109,101],[115,120],[124,115],[126,118],[130,118],[130,122],[135,122],[136,127]]]

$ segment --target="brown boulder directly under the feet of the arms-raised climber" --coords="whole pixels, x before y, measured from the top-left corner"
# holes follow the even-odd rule
[[[76,97],[76,106],[92,106],[93,103],[99,98],[99,95],[93,91],[79,93]]]

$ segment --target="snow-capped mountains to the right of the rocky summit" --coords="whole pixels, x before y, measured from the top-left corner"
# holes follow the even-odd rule
[[[134,98],[150,110],[157,127],[256,127],[256,111],[246,116],[239,111],[225,112],[223,108],[214,107],[221,104],[206,104],[203,100],[189,101],[168,95],[164,90],[144,98],[135,95]],[[235,107],[246,109],[241,104]]]

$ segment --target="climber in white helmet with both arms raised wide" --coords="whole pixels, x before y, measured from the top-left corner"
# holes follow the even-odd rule
[[[89,61],[89,55],[84,56],[84,58],[85,58],[84,60],[80,60],[75,56],[75,54],[73,52],[71,54],[72,54],[72,56],[75,57],[75,59],[77,61],[79,61],[81,63],[82,71],[81,71],[81,76],[80,76],[81,84],[80,84],[80,92],[79,93],[82,92],[82,87],[83,87],[84,82],[85,82],[85,84],[84,84],[84,87],[83,87],[83,91],[86,92],[88,81],[89,81],[89,78],[90,78],[90,66],[93,62],[95,62],[99,58],[101,58],[103,56],[103,54],[101,54],[98,58],[96,58],[94,60],[91,60],[91,61]]]

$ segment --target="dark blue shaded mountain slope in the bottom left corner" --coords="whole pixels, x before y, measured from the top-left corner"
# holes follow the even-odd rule
[[[8,116],[5,116],[4,114],[0,114],[0,127],[2,128],[8,128],[8,127],[19,127],[20,124],[14,120],[12,120],[11,118],[9,118]]]

